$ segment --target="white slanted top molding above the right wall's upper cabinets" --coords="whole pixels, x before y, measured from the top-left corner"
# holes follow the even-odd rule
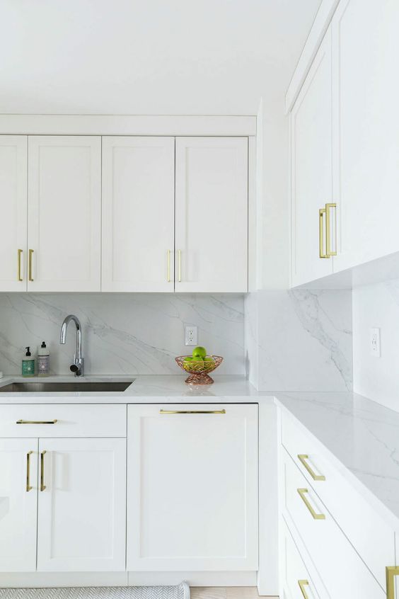
[[[325,32],[328,30],[328,26],[330,25],[332,16],[334,15],[338,4],[340,4],[340,0],[322,0],[320,4],[285,95],[286,114],[291,110],[298,97],[299,91],[301,91],[303,81],[306,79],[306,75],[311,68],[313,59],[316,56]]]

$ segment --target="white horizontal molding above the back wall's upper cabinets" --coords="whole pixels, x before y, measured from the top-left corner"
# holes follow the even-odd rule
[[[256,116],[0,115],[0,135],[256,135]]]

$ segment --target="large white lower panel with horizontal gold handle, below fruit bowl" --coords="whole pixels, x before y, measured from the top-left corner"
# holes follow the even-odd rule
[[[258,569],[257,420],[248,404],[128,406],[129,571]]]

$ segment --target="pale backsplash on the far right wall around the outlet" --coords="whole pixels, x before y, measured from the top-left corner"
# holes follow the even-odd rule
[[[381,329],[381,358],[370,329]],[[399,411],[399,280],[353,290],[354,392]]]

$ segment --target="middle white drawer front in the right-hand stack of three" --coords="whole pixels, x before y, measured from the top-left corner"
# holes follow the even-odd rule
[[[385,593],[281,447],[284,510],[294,523],[332,599],[378,599]],[[370,540],[373,542],[373,540]]]

